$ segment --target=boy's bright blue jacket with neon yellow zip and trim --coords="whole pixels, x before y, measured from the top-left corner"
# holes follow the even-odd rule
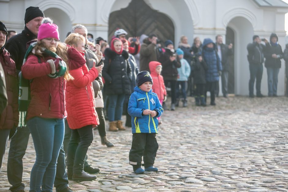
[[[145,109],[157,111],[157,116],[143,115]],[[135,86],[128,103],[128,113],[132,117],[132,133],[158,133],[158,120],[163,108],[156,93],[142,91]]]

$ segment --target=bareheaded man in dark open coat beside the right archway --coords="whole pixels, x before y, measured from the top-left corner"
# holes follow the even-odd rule
[[[233,47],[232,43],[230,43],[229,45],[223,44],[222,35],[216,36],[216,51],[222,64],[221,82],[222,82],[223,97],[227,97],[228,94],[228,75],[229,75],[228,56],[233,55],[232,47]],[[217,88],[218,90],[216,90],[216,95],[218,95],[219,93],[219,83],[217,84]]]

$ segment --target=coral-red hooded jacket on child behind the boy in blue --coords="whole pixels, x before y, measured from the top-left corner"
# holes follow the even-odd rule
[[[164,100],[166,93],[166,87],[164,84],[163,76],[156,73],[156,67],[161,65],[157,61],[151,61],[149,63],[150,75],[153,79],[152,91],[157,94],[159,100]]]

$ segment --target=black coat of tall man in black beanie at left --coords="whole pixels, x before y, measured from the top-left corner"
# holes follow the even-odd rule
[[[21,71],[24,56],[27,50],[27,42],[36,39],[35,36],[29,29],[25,26],[25,29],[11,37],[5,44],[5,49],[10,53],[11,59],[15,61],[17,72]]]

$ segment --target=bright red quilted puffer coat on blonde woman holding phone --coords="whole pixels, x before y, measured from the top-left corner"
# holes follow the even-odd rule
[[[89,71],[84,58],[76,49],[68,50],[69,68],[74,80],[67,81],[66,110],[70,129],[79,129],[87,125],[99,125],[95,111],[94,91],[92,81],[98,77],[94,67]]]

